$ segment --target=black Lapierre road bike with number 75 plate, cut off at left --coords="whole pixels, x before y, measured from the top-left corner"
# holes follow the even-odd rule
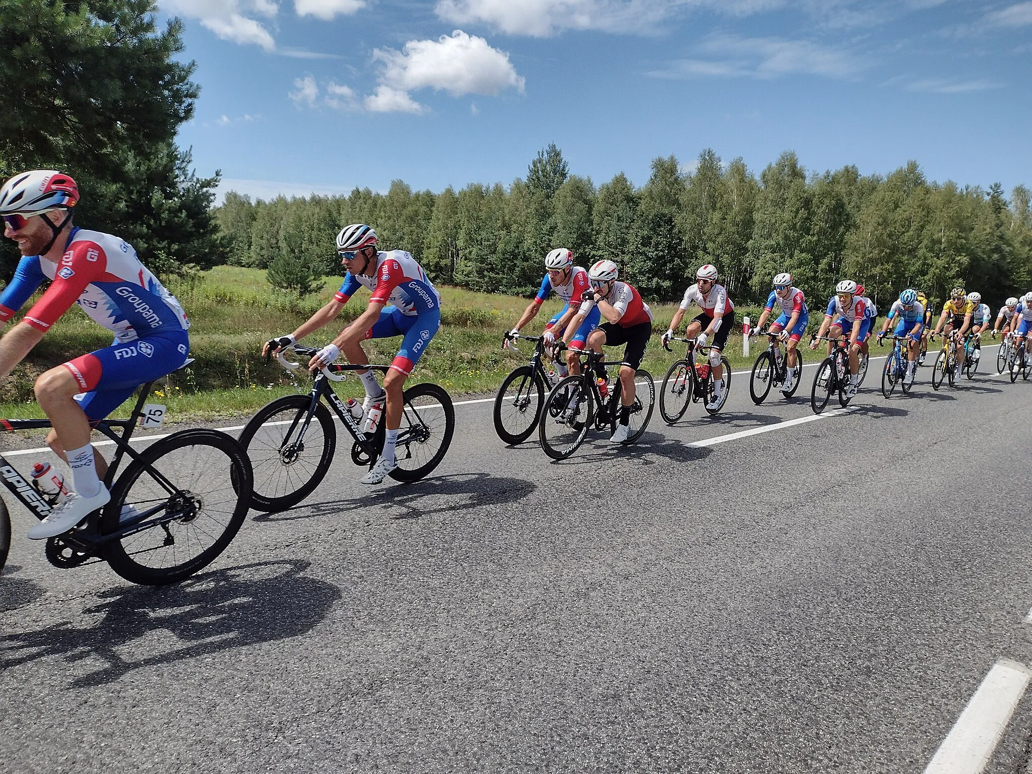
[[[78,526],[47,538],[44,550],[54,567],[74,568],[95,559],[106,561],[131,583],[176,583],[212,562],[244,523],[251,502],[251,462],[232,436],[196,428],[159,438],[141,451],[130,446],[141,420],[156,409],[164,415],[164,407],[146,404],[153,385],[148,382],[140,389],[129,419],[104,419],[93,425],[115,444],[103,480],[111,498]],[[0,426],[12,431],[52,424],[49,419],[3,419]],[[116,428],[122,428],[121,433]],[[118,475],[126,457],[130,461]],[[3,456],[0,478],[39,519],[58,501],[30,485]],[[0,543],[6,544],[9,536],[10,517],[0,501]],[[6,545],[0,546],[0,567],[6,553]]]

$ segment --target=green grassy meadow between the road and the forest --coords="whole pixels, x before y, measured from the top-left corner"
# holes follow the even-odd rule
[[[272,397],[307,391],[311,384],[307,378],[302,377],[295,385],[275,360],[270,364],[263,361],[259,354],[261,346],[269,337],[289,333],[307,320],[333,297],[341,282],[340,277],[327,278],[322,291],[305,298],[271,288],[265,282],[264,271],[234,266],[216,267],[198,281],[170,282],[169,290],[190,317],[190,354],[195,362],[172,375],[169,384],[159,388],[163,394],[155,395],[154,402],[166,402],[168,416],[173,420],[209,419],[251,414]],[[516,323],[529,299],[451,287],[439,290],[442,327],[413,374],[413,382],[438,382],[456,396],[493,392],[505,375],[529,356],[529,346],[524,348],[526,355],[502,350],[503,334]],[[359,291],[338,318],[340,324],[326,326],[304,343],[321,346],[329,342],[346,322],[361,314],[367,298],[367,291]],[[25,310],[28,308],[26,304]],[[546,301],[524,332],[540,332],[545,321],[560,308],[557,298]],[[655,335],[644,367],[657,381],[684,351],[680,346],[675,348],[675,354],[666,353],[658,342],[658,334],[666,330],[675,309],[676,304],[652,307]],[[739,310],[739,321],[741,315],[749,313],[752,319],[756,318],[754,309]],[[0,387],[0,416],[40,417],[32,394],[35,378],[71,357],[106,347],[110,341],[109,333],[77,307],[70,310]],[[372,340],[363,347],[372,362],[387,363],[397,351],[398,341]],[[753,345],[753,358],[757,346]],[[728,349],[733,368],[751,367],[752,358],[746,363],[741,356],[740,334],[733,334]],[[618,357],[618,351],[613,356]],[[357,379],[350,379],[341,387],[344,395],[357,396],[361,392]],[[123,407],[118,413],[127,412]]]

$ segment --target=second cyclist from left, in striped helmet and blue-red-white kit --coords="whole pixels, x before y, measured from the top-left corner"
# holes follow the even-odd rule
[[[366,363],[368,359],[362,350],[362,341],[404,336],[401,348],[384,377],[383,389],[380,389],[373,372],[359,373],[365,388],[362,406],[366,412],[364,432],[376,431],[377,415],[386,402],[384,449],[373,470],[361,479],[363,484],[379,484],[397,467],[394,447],[401,426],[405,380],[441,327],[441,296],[423,267],[409,253],[404,250],[377,250],[377,232],[364,223],[354,223],[341,229],[336,235],[336,252],[348,270],[341,289],[332,300],[293,333],[266,342],[262,354],[268,356],[276,353],[330,323],[360,287],[373,291],[365,312],[313,355],[309,368],[317,370],[329,365],[342,352],[351,363]]]

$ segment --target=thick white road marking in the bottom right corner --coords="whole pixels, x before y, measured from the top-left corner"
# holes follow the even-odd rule
[[[986,768],[1010,716],[1025,695],[1032,671],[1001,659],[989,671],[925,774],[978,774]]]

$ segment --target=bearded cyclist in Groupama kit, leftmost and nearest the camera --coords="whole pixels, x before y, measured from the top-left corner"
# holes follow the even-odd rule
[[[115,333],[110,347],[82,355],[36,380],[39,408],[54,429],[46,443],[71,467],[72,489],[29,529],[33,539],[61,535],[104,506],[107,463],[90,444],[90,423],[106,417],[141,384],[187,361],[190,323],[183,308],[123,239],[73,225],[78,187],[67,174],[35,169],[0,188],[4,236],[22,260],[0,294],[8,322],[35,290],[51,281],[32,309],[0,338],[0,379],[29,354],[73,303]]]

